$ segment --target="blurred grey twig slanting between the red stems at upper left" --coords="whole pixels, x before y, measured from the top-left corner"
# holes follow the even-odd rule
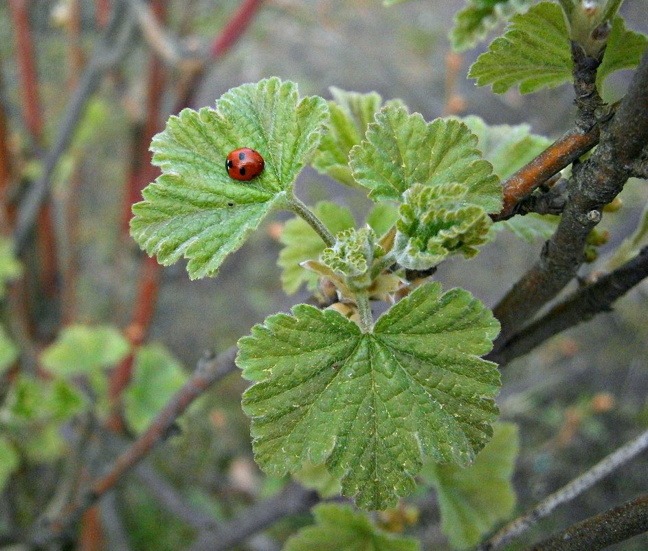
[[[47,195],[49,195],[52,176],[58,160],[65,153],[72,136],[74,136],[74,131],[80,122],[87,100],[99,85],[102,74],[118,63],[126,54],[127,45],[133,31],[133,21],[126,11],[119,8],[113,10],[113,18],[107,26],[102,41],[96,46],[93,56],[81,76],[74,96],[72,96],[65,111],[65,116],[60,122],[60,131],[56,137],[54,147],[45,157],[43,175],[25,194],[19,208],[14,232],[18,252],[22,252],[25,248],[27,237],[29,237],[34,226],[38,210]]]

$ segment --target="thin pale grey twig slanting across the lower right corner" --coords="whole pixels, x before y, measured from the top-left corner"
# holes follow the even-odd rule
[[[478,551],[498,551],[509,541],[524,534],[531,526],[539,520],[544,519],[558,506],[578,497],[585,490],[594,486],[603,477],[606,477],[616,468],[631,460],[633,457],[648,448],[648,431],[636,437],[631,442],[621,446],[618,450],[607,455],[603,460],[590,468],[583,475],[575,478],[560,488],[557,492],[540,501],[537,506],[526,513],[526,515],[515,519],[512,523],[504,526],[491,539],[485,541],[478,547]],[[589,548],[588,548],[589,549]]]

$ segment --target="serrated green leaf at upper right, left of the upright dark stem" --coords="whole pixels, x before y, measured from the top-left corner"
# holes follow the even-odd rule
[[[511,19],[506,34],[471,65],[469,78],[493,85],[495,94],[518,86],[522,94],[555,88],[572,79],[569,32],[561,8],[541,2]]]

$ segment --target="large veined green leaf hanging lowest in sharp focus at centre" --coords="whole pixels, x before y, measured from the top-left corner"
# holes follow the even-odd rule
[[[270,475],[326,462],[342,493],[386,508],[411,493],[421,455],[467,465],[491,436],[499,324],[465,290],[429,283],[370,334],[309,305],[238,341],[256,461]]]

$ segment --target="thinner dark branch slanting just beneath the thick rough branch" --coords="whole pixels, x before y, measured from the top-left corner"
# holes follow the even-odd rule
[[[632,260],[621,268],[601,277],[590,285],[574,292],[568,299],[555,305],[550,312],[527,325],[506,341],[489,360],[506,365],[524,356],[548,338],[589,321],[600,312],[609,312],[611,305],[635,285],[648,277],[648,246],[640,250]]]

